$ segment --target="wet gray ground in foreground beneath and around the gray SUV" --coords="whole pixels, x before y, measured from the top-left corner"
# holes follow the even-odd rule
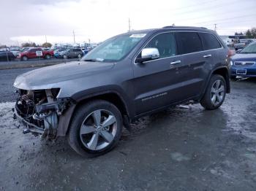
[[[106,155],[41,141],[0,104],[0,190],[256,190],[256,79],[232,82],[220,109],[143,117]]]

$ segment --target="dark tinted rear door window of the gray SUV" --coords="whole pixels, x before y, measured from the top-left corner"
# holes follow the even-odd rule
[[[178,47],[181,54],[200,52],[203,50],[202,42],[197,33],[178,32]]]

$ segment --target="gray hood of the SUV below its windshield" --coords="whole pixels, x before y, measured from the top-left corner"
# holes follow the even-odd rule
[[[55,87],[60,82],[78,79],[113,68],[114,63],[73,61],[35,69],[21,74],[14,86],[24,90],[39,90]]]

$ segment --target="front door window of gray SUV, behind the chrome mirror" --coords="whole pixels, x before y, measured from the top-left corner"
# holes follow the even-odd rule
[[[173,33],[163,33],[154,36],[146,45],[146,48],[154,47],[159,50],[160,58],[176,55],[176,40]]]

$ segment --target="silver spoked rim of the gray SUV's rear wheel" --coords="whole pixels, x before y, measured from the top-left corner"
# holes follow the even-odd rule
[[[211,103],[214,104],[214,106],[222,102],[224,91],[224,84],[221,80],[218,79],[214,82],[214,85],[211,87]]]

